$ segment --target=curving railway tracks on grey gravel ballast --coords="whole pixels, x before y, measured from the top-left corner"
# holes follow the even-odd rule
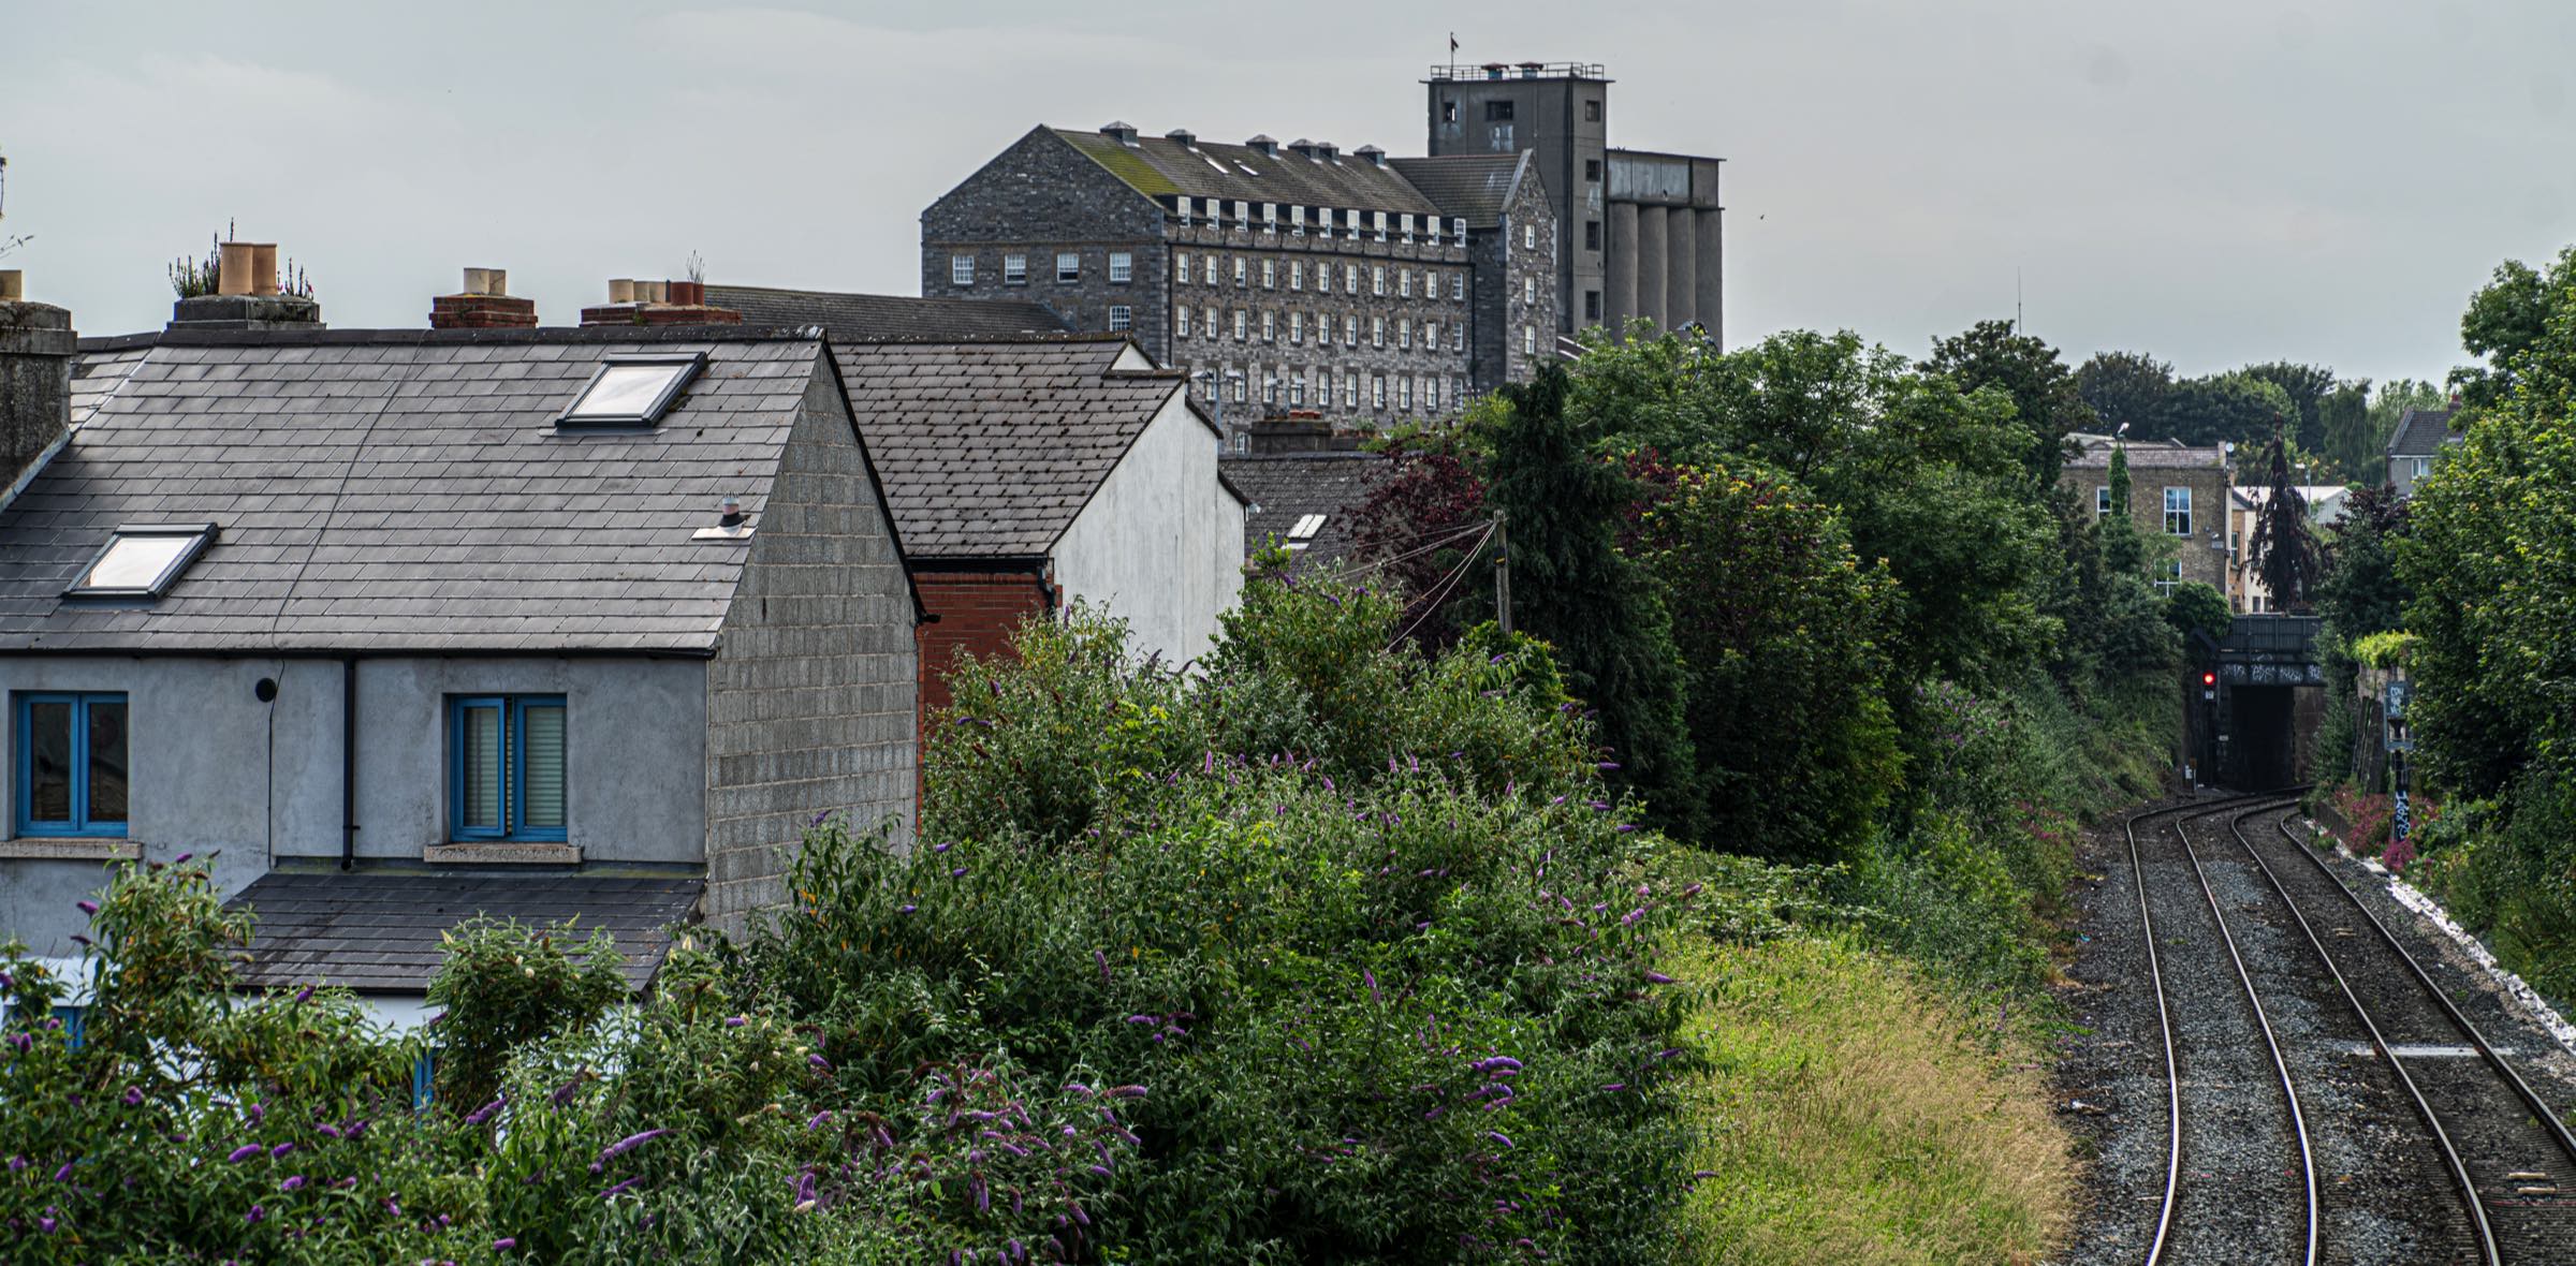
[[[2488,1042],[2290,829],[2293,808],[2280,793],[2233,795],[2125,823],[2166,1091],[2164,1191],[2146,1263],[2352,1258],[2354,1245],[2331,1243],[2316,1122],[2300,1096],[2347,1055],[2367,1058],[2344,1068],[2362,1068],[2372,1086],[2385,1073],[2383,1101],[2398,1112],[2388,1119],[2403,1119],[2393,1106],[2403,1099],[2416,1140],[2439,1158],[2429,1168],[2450,1179],[2450,1191],[2427,1186],[2421,1202],[2447,1199],[2458,1225],[2437,1212],[2419,1248],[2486,1266],[2576,1263],[2576,1135],[2514,1068],[2512,1050]],[[2195,826],[2208,844],[2192,841]],[[2233,893],[2233,919],[2213,872]],[[2269,955],[2239,944],[2239,931],[2254,929]],[[2269,1004],[2293,996],[2318,1014],[2347,1011],[2367,1047],[2334,1058],[2313,1045],[2285,1050]],[[2306,1029],[2313,1042],[2316,1022]],[[2429,1171],[2427,1181],[2437,1184]],[[2421,1225],[2429,1209],[2372,1212]]]

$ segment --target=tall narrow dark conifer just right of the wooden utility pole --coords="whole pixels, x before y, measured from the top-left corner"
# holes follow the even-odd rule
[[[1569,394],[1566,371],[1546,365],[1479,414],[1492,435],[1484,502],[1512,535],[1512,620],[1556,648],[1566,687],[1600,713],[1618,780],[1646,795],[1659,823],[1692,836],[1695,759],[1672,618],[1618,551],[1636,484],[1595,455],[1597,432],[1569,417]]]

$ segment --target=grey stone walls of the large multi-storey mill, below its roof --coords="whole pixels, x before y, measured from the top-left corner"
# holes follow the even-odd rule
[[[1334,162],[1383,162],[1316,149]],[[922,214],[922,296],[1036,298],[1084,332],[1121,329],[1113,309],[1123,309],[1123,332],[1157,363],[1188,371],[1193,396],[1229,432],[1288,409],[1347,427],[1445,417],[1466,394],[1528,376],[1520,324],[1538,322],[1535,347],[1553,350],[1558,234],[1543,190],[1515,203],[1510,229],[1535,224],[1543,273],[1528,304],[1520,275],[1530,255],[1517,237],[1515,250],[1502,250],[1499,234],[1461,242],[1455,216],[1437,234],[1406,232],[1412,216],[1327,232],[1306,224],[1306,206],[1244,206],[1242,219],[1211,221],[1206,201],[1193,216],[1180,198],[1149,196],[1054,129],[1036,129]],[[1059,255],[1074,255],[1072,278],[1059,278]],[[1113,255],[1126,257],[1126,280],[1113,278]],[[1012,257],[1023,260],[1018,273]],[[1479,316],[1492,329],[1471,335]],[[1319,337],[1327,324],[1329,337]]]

